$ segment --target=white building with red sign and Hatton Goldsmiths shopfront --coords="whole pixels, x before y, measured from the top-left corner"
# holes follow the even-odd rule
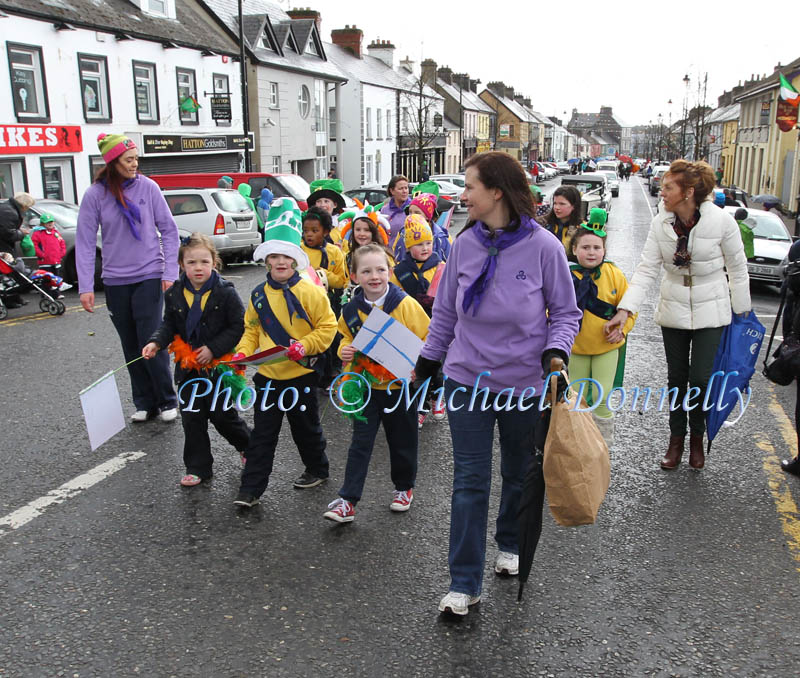
[[[240,168],[235,43],[188,0],[141,2],[2,3],[0,197],[79,202],[100,133],[134,139],[144,173]]]

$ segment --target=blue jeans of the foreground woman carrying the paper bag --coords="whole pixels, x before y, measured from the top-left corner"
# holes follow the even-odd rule
[[[466,393],[455,394],[451,401],[451,394],[458,387],[466,388]],[[486,562],[495,422],[500,430],[503,486],[494,538],[501,551],[519,553],[519,500],[525,471],[533,454],[536,422],[541,413],[536,404],[525,412],[516,407],[508,412],[495,412],[491,408],[495,394],[486,399],[489,409],[481,411],[481,398],[478,396],[472,411],[468,411],[471,391],[471,386],[451,379],[445,381],[454,461],[448,561],[450,590],[477,596],[481,592]],[[530,400],[526,404],[531,404]],[[459,405],[463,407],[454,409]]]

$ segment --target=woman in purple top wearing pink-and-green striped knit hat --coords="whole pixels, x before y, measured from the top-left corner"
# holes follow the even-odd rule
[[[106,306],[125,360],[131,361],[161,325],[164,291],[178,278],[178,227],[158,185],[138,173],[136,144],[122,134],[101,134],[97,145],[106,166],[84,194],[78,214],[78,291],[83,308],[93,313],[99,226]],[[128,372],[136,406],[131,420],[158,415],[174,421],[178,399],[166,351],[134,362]]]

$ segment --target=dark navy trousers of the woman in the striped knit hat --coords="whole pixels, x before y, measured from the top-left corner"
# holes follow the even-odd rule
[[[161,325],[164,293],[161,280],[153,278],[130,285],[106,285],[106,308],[119,335],[125,362],[142,355],[142,348]],[[156,353],[151,360],[128,365],[133,404],[137,410],[154,413],[178,406],[172,387],[169,354]]]

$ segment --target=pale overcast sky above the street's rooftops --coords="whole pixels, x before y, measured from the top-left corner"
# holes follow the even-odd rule
[[[434,59],[467,72],[483,85],[502,80],[545,115],[569,118],[601,105],[627,124],[681,115],[688,73],[689,104],[697,101],[698,74],[708,72],[707,102],[753,73],[772,73],[800,56],[793,40],[797,15],[791,2],[705,0],[571,0],[566,2],[383,2],[305,0],[322,14],[322,35],[357,25],[364,48],[391,40],[397,59],[417,66]],[[245,4],[246,7],[246,4]],[[781,27],[781,16],[786,22]]]

